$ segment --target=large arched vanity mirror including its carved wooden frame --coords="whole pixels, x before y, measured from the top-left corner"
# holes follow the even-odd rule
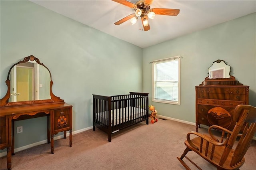
[[[33,55],[25,57],[10,68],[0,106],[63,101],[52,94],[52,84],[49,69]]]

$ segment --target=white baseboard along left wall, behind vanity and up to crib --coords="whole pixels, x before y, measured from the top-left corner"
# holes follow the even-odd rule
[[[88,127],[88,128],[83,128],[83,129],[80,129],[80,130],[76,130],[76,131],[72,132],[72,135],[73,135],[73,134],[80,133],[80,132],[84,132],[84,131],[90,130],[90,129],[92,129],[92,127]],[[67,136],[69,136],[69,133],[68,133],[68,132],[67,132]],[[55,136],[55,137],[53,138],[53,140],[58,140],[58,139],[60,139],[60,138],[63,138],[63,135]],[[38,145],[40,145],[40,144],[46,144],[46,143],[47,143],[47,139],[46,139],[46,140],[42,140],[42,141],[40,141],[40,142],[28,144],[28,145],[26,145],[26,146],[22,146],[22,147],[20,147],[20,148],[15,148],[15,149],[14,149],[14,153],[15,153],[15,152],[19,152],[19,151],[21,151],[21,150],[28,149],[28,148],[32,148],[32,147],[34,147],[34,146],[38,146]],[[6,155],[7,155],[7,151],[0,153],[0,157],[6,156]]]

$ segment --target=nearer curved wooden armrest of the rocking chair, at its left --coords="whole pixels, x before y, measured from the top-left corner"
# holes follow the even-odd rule
[[[192,146],[193,148],[195,148],[197,150],[199,150],[199,148],[193,144],[192,140],[190,139],[190,134],[194,134],[194,135],[200,137],[201,139],[206,140],[207,142],[210,142],[211,144],[213,144],[215,146],[224,146],[228,142],[228,140],[225,140],[224,142],[218,142],[214,138],[211,138],[211,136],[207,136],[206,134],[200,134],[198,132],[189,132],[187,134],[187,141],[190,144],[190,146]]]

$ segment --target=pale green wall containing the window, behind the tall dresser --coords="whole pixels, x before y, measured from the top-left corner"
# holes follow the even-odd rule
[[[231,66],[231,75],[249,87],[256,106],[256,13],[143,49],[143,91],[159,115],[195,123],[195,86],[208,76],[217,59]],[[152,103],[150,61],[181,55],[180,105]]]

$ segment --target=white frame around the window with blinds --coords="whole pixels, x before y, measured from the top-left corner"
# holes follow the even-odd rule
[[[175,57],[159,59],[159,60],[155,60],[155,61],[151,62],[152,63],[152,102],[180,105],[180,58],[181,58],[181,56],[175,56]],[[178,59],[178,101],[155,99],[154,98],[154,64],[169,62],[169,61],[176,60],[176,59]]]

